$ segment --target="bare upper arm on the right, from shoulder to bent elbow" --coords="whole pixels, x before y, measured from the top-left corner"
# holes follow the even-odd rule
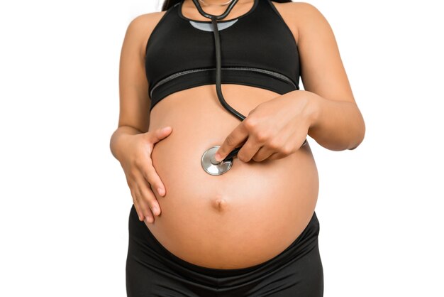
[[[356,103],[328,21],[311,4],[300,2],[294,9],[304,90],[326,99]]]

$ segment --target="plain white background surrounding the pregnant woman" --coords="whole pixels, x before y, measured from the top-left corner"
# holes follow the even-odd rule
[[[338,41],[365,140],[309,138],[326,297],[444,296],[443,11],[309,1]],[[118,62],[145,1],[0,6],[0,296],[126,296],[131,193],[109,139]]]

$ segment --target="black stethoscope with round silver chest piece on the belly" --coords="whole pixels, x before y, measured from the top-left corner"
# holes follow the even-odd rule
[[[260,0],[256,0],[260,1]],[[243,121],[245,119],[245,116],[243,114],[240,114],[237,110],[233,109],[223,98],[222,90],[221,90],[221,41],[219,38],[219,31],[217,26],[217,21],[225,18],[228,13],[230,13],[231,9],[233,9],[233,6],[235,6],[236,3],[238,3],[238,0],[233,0],[231,4],[228,5],[228,8],[224,13],[222,13],[219,16],[215,16],[210,13],[206,13],[199,4],[199,0],[193,0],[194,5],[196,6],[199,13],[201,13],[202,16],[205,16],[206,18],[211,19],[211,25],[213,26],[213,32],[214,32],[214,47],[216,49],[216,93],[219,99],[219,102],[221,102],[222,106],[228,110],[228,112],[231,112],[235,117],[240,119],[240,121]],[[303,146],[306,144],[306,140],[304,141]],[[220,148],[221,146],[213,146],[209,149],[207,149],[201,158],[201,165],[202,168],[204,168],[204,171],[206,173],[209,173],[211,175],[221,175],[223,173],[226,173],[228,170],[230,170],[232,164],[233,164],[233,157],[237,156],[238,151],[240,151],[240,148],[242,146],[233,149],[228,155],[220,162],[216,161],[214,159],[214,154]]]

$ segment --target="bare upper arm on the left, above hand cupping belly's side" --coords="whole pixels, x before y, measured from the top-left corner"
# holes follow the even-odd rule
[[[163,13],[165,11],[137,16],[126,29],[119,63],[118,126],[148,131],[150,97],[145,75],[145,45]]]

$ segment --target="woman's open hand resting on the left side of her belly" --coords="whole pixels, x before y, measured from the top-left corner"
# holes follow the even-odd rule
[[[160,205],[152,188],[163,196],[165,186],[152,166],[151,153],[154,145],[169,136],[171,131],[172,128],[166,126],[143,134],[128,135],[125,139],[125,156],[121,158],[120,163],[140,221],[146,218],[145,222],[152,223],[154,215],[160,215]]]

